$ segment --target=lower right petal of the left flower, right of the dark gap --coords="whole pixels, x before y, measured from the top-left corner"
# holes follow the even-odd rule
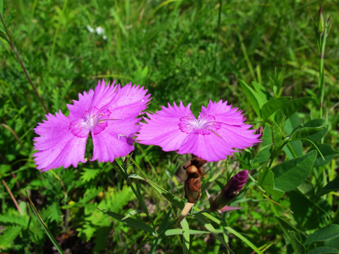
[[[140,119],[107,121],[107,126],[100,133],[93,133],[93,158],[99,162],[113,162],[117,157],[124,157],[134,150],[131,136],[139,130],[136,125]]]

